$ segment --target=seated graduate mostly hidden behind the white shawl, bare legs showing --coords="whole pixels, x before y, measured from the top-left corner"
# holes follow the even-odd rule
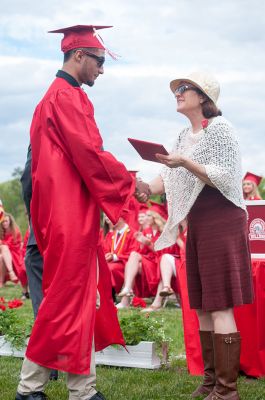
[[[176,295],[176,305],[179,304],[179,282],[178,282],[178,268],[181,260],[184,258],[185,253],[185,234],[186,234],[186,221],[179,224],[176,243],[173,246],[167,247],[158,252],[158,276],[159,284],[156,291],[156,296],[152,304],[144,308],[142,312],[159,311],[166,305],[168,296]]]

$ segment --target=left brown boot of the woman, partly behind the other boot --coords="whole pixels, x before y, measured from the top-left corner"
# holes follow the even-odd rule
[[[213,332],[199,331],[199,334],[204,365],[204,377],[202,384],[192,393],[191,397],[193,398],[211,393],[215,385]]]

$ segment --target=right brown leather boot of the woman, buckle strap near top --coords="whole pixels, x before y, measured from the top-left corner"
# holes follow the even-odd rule
[[[213,338],[216,383],[213,392],[205,400],[240,400],[236,383],[240,359],[240,333],[215,333]]]

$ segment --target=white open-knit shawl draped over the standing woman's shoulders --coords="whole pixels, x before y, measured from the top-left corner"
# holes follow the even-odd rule
[[[190,128],[183,129],[172,153],[181,152],[205,166],[206,174],[215,187],[236,206],[245,208],[242,193],[241,156],[231,124],[216,117],[196,144],[185,149]],[[184,167],[163,167],[160,173],[168,202],[168,220],[155,249],[161,250],[176,242],[178,224],[189,213],[205,183]]]

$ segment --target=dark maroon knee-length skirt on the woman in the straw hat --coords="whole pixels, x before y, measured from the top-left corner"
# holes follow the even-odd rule
[[[208,185],[188,214],[186,261],[191,308],[253,302],[246,213]]]

